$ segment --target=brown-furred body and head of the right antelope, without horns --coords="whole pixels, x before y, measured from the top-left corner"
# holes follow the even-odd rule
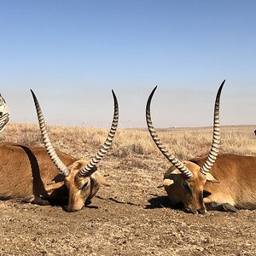
[[[172,166],[165,174],[164,186],[172,204],[183,202],[189,212],[199,212],[208,206],[230,205],[242,209],[256,209],[256,157],[236,154],[218,155],[207,177],[201,174],[200,167],[207,157],[190,160],[185,166],[194,173],[192,178],[184,178]],[[192,196],[183,183],[189,183]],[[165,185],[166,183],[166,185]],[[204,191],[204,200],[200,203],[197,195]]]

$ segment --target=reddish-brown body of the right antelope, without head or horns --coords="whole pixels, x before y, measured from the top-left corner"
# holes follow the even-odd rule
[[[206,160],[191,160],[201,166]],[[256,209],[256,157],[238,154],[220,154],[211,169],[218,182],[207,182],[204,202],[225,204],[239,209]]]

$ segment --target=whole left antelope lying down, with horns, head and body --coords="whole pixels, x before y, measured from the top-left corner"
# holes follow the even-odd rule
[[[22,201],[40,205],[49,204],[52,199],[68,200],[67,211],[78,211],[90,204],[100,185],[108,185],[96,171],[96,164],[107,153],[117,130],[117,98],[113,93],[114,113],[108,138],[96,156],[88,161],[77,160],[53,148],[45,128],[43,113],[33,92],[32,96],[46,149],[3,143],[0,147],[0,198],[22,198]]]

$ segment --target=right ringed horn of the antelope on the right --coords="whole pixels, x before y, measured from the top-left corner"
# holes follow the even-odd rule
[[[200,172],[207,175],[210,172],[213,163],[218,156],[218,148],[220,143],[220,128],[219,128],[219,101],[221,90],[224,86],[225,80],[220,84],[218,88],[218,93],[214,105],[214,118],[213,118],[213,137],[212,137],[212,147],[210,153],[208,154],[207,160],[204,165],[201,166]]]

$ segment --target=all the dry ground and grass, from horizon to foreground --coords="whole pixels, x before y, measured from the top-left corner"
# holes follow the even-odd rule
[[[226,127],[221,151],[256,155],[253,128]],[[77,157],[93,156],[108,133],[49,130],[57,148]],[[40,143],[36,125],[10,124],[1,137]],[[179,157],[195,157],[207,153],[211,129],[160,131],[160,137]],[[193,215],[172,209],[157,189],[169,166],[147,131],[119,131],[99,165],[111,187],[101,188],[90,207],[68,213],[0,201],[0,255],[256,255],[256,210]]]

